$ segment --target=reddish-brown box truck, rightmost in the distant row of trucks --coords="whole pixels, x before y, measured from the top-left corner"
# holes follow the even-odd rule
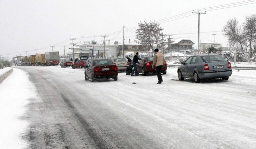
[[[45,52],[45,65],[59,65],[60,63],[60,55],[59,51],[56,52]]]

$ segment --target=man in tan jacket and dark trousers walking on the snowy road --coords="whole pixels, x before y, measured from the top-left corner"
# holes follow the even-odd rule
[[[164,66],[164,55],[159,52],[158,49],[155,49],[155,58],[152,65],[152,68],[154,69],[156,67],[156,73],[158,82],[156,84],[161,84],[163,82],[162,75],[161,75],[161,69]]]

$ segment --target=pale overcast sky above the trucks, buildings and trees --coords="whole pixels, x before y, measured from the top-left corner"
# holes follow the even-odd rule
[[[78,43],[94,40],[95,36],[95,40],[101,42],[101,35],[109,35],[106,40],[115,38],[111,44],[123,43],[123,33],[120,33],[123,25],[134,33],[140,21],[159,21],[190,11],[191,14],[178,17],[180,19],[160,22],[160,26],[164,34],[173,34],[171,38],[188,38],[197,47],[198,15],[192,15],[192,10],[242,1],[245,0],[0,0],[0,55],[7,57],[6,54],[11,53],[10,58],[26,55],[25,51],[34,55],[34,49],[44,53],[52,51],[52,45],[54,51],[63,54],[64,45],[65,52],[71,52],[68,50],[70,38],[77,38],[74,42]],[[214,33],[217,34],[215,42],[228,44],[221,32],[225,23],[234,17],[243,23],[246,16],[256,13],[255,8],[256,4],[250,4],[202,14],[201,42],[213,40]],[[131,32],[125,32],[125,42],[129,39],[134,42],[135,35]]]

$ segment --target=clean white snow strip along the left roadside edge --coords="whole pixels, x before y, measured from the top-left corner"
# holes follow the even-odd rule
[[[29,124],[22,120],[22,116],[31,98],[37,98],[37,93],[28,74],[14,68],[12,74],[0,84],[1,149],[27,148],[21,136]]]

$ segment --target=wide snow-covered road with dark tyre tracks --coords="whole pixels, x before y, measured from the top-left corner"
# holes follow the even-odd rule
[[[118,74],[118,81],[84,80],[83,69],[16,67],[29,74],[32,148],[255,148],[255,71],[227,81],[179,81]],[[135,82],[136,84],[132,84]]]

